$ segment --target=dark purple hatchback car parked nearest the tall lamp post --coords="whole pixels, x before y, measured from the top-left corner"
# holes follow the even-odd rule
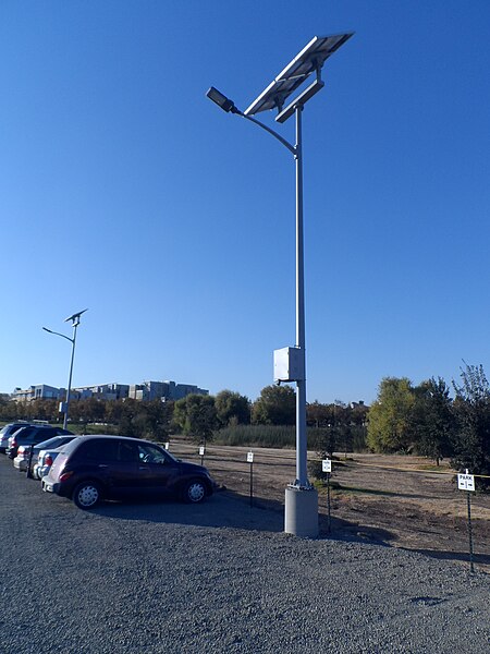
[[[203,501],[217,488],[206,468],[175,459],[148,440],[125,436],[83,436],[62,446],[42,491],[91,509],[101,499],[179,497]]]

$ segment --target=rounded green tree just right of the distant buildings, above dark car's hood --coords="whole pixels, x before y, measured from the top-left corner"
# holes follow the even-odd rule
[[[175,402],[174,424],[197,443],[212,439],[218,428],[215,398],[204,395],[188,395]]]

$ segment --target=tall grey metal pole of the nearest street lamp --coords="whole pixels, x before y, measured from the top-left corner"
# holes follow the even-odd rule
[[[306,356],[305,356],[305,264],[303,235],[303,152],[302,111],[296,113],[296,347],[301,351],[303,378],[296,380],[296,482],[299,488],[308,488],[306,440]]]

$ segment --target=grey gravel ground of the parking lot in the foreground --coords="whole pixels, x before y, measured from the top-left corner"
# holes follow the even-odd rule
[[[228,493],[84,512],[4,457],[0,497],[2,654],[490,651],[490,577],[458,564],[298,540]]]

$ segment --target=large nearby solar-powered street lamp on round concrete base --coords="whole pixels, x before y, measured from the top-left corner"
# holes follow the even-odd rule
[[[213,86],[206,94],[223,111],[236,113],[266,130],[292,153],[296,161],[296,346],[277,350],[274,367],[278,360],[278,370],[281,370],[278,383],[296,383],[296,480],[285,492],[285,532],[306,537],[318,535],[318,494],[307,476],[302,111],[305,104],[324,86],[321,81],[323,63],[351,36],[352,33],[314,37],[245,111],[237,109],[233,100]],[[311,74],[315,75],[315,82],[284,107],[290,95]],[[275,121],[280,123],[295,114],[295,145],[252,118],[268,109],[278,110]]]

